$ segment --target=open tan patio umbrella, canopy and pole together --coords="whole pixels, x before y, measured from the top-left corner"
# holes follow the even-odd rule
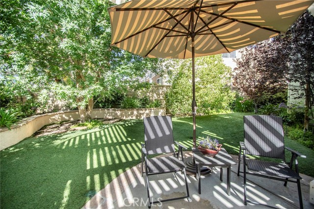
[[[142,57],[194,58],[253,45],[285,33],[313,0],[131,0],[109,7],[111,45]]]

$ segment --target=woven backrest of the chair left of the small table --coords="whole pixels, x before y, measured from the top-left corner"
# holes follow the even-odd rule
[[[147,154],[175,152],[170,116],[144,117],[144,133]]]

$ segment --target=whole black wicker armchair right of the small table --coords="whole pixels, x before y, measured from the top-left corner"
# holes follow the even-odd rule
[[[285,148],[292,153],[289,165],[286,164]],[[243,172],[240,172],[241,153],[243,151]],[[247,159],[246,155],[280,159],[282,163]],[[302,194],[297,157],[304,155],[285,147],[283,121],[277,116],[244,116],[244,142],[240,142],[237,175],[244,176],[244,205],[246,199],[246,175],[254,175],[297,184],[300,208],[303,209]],[[294,162],[294,163],[293,163]],[[292,166],[294,164],[294,170]],[[245,166],[246,165],[246,166]],[[247,168],[247,169],[246,169]],[[249,171],[248,171],[249,170]]]

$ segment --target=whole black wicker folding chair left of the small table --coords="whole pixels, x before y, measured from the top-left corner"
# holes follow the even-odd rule
[[[170,116],[151,116],[144,118],[144,132],[145,143],[142,144],[142,175],[146,174],[146,187],[148,196],[148,208],[151,208],[151,204],[165,202],[170,200],[178,200],[187,198],[190,201],[189,191],[187,186],[187,179],[185,173],[185,164],[183,162],[183,149],[186,149],[183,145],[179,144],[173,139],[172,133],[172,121]],[[175,153],[174,144],[179,146],[178,153]],[[155,157],[149,158],[150,155],[173,153],[174,156]],[[181,153],[181,160],[179,160],[179,153]],[[143,167],[143,161],[145,161],[145,171]],[[183,171],[186,186],[186,196],[151,201],[149,191],[148,176]]]

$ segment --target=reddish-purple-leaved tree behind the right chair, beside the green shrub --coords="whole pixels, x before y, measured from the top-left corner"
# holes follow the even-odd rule
[[[271,50],[273,40],[266,40],[242,49],[236,59],[234,83],[254,101],[255,112],[264,94],[275,94],[287,88],[285,57],[279,50]],[[280,60],[277,60],[280,59]]]

